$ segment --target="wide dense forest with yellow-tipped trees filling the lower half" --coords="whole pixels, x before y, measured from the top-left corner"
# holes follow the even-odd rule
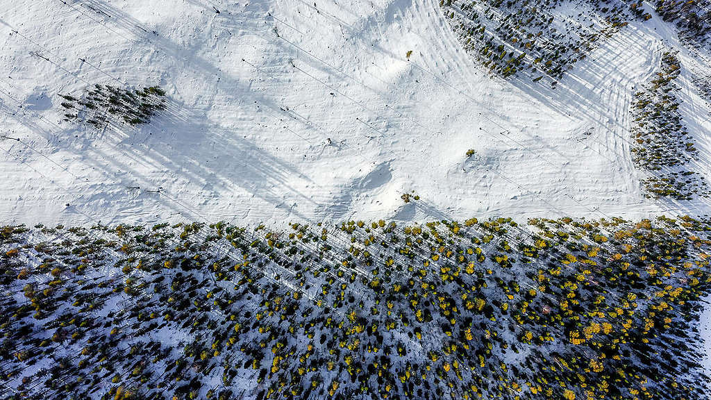
[[[702,399],[711,221],[0,228],[9,399]]]

